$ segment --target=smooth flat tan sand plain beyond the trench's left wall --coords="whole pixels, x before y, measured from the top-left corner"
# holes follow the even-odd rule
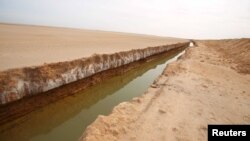
[[[0,24],[0,71],[187,40],[129,33]]]

